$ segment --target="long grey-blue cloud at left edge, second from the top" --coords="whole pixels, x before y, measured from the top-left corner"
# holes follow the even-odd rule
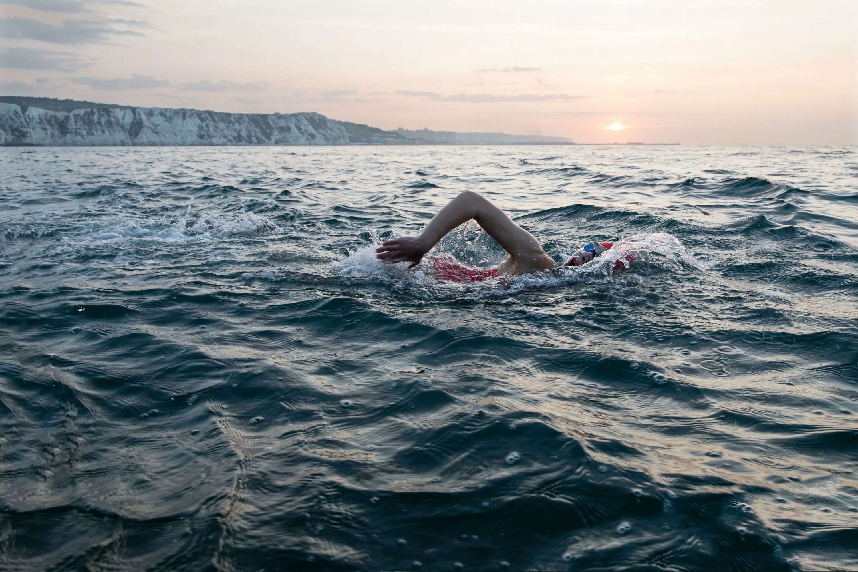
[[[105,43],[113,36],[142,36],[141,32],[114,27],[115,22],[101,20],[69,20],[61,26],[27,18],[0,19],[0,38],[38,39],[53,44]]]

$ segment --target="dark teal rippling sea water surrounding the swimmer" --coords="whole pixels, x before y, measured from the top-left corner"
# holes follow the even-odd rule
[[[0,149],[0,569],[856,569],[856,268],[855,148]]]

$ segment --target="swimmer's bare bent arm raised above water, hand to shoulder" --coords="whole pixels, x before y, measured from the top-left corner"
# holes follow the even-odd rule
[[[510,258],[500,267],[503,273],[522,274],[557,266],[534,235],[492,202],[469,190],[447,203],[418,236],[386,240],[376,250],[376,256],[390,262],[411,262],[408,268],[414,267],[447,232],[471,219],[509,253]]]

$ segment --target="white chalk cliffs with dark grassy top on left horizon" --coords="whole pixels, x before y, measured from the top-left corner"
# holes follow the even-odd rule
[[[413,139],[318,113],[218,113],[0,98],[0,145],[348,145]]]

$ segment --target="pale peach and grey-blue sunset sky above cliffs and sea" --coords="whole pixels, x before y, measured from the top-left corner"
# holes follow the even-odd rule
[[[0,93],[578,142],[858,144],[858,1],[0,0]]]

